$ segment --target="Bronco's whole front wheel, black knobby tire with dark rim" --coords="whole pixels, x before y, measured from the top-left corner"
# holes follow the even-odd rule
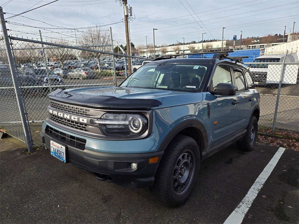
[[[167,146],[155,182],[149,188],[152,196],[175,208],[188,200],[199,174],[200,154],[196,141],[177,135]]]

